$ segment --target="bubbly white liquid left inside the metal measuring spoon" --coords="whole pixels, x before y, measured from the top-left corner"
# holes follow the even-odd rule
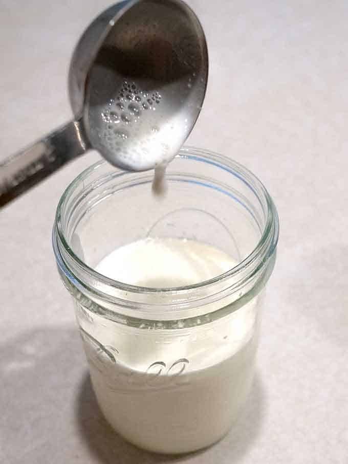
[[[97,79],[98,77],[96,77]],[[115,98],[94,104],[100,117],[93,119],[92,138],[106,159],[126,170],[154,169],[175,157],[188,135],[181,111],[159,92],[139,82],[123,81]],[[176,101],[179,101],[176,99]]]

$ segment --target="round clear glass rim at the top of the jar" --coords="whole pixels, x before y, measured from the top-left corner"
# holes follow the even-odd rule
[[[124,282],[120,282],[117,280],[113,280],[110,277],[106,277],[103,274],[100,274],[98,271],[93,269],[92,267],[88,266],[83,260],[81,260],[75,252],[71,249],[68,244],[68,240],[64,236],[63,226],[62,226],[62,208],[64,203],[66,202],[67,198],[69,198],[78,185],[83,183],[84,180],[88,178],[88,176],[95,170],[105,166],[107,164],[106,161],[98,161],[97,163],[93,164],[89,168],[83,170],[71,183],[70,185],[64,190],[58,206],[56,210],[55,216],[55,223],[54,223],[54,230],[53,230],[53,247],[56,255],[56,259],[58,265],[60,267],[63,266],[64,273],[69,273],[70,275],[68,278],[73,280],[76,283],[82,284],[85,286],[83,281],[79,281],[76,278],[76,275],[71,272],[71,264],[79,268],[82,273],[88,274],[89,278],[93,279],[94,281],[98,281],[101,285],[98,285],[98,288],[104,289],[117,289],[127,293],[128,297],[130,295],[141,295],[141,294],[156,294],[156,295],[165,295],[166,297],[175,297],[174,299],[178,301],[178,296],[187,297],[190,292],[199,291],[202,289],[208,289],[210,286],[213,286],[217,282],[221,283],[225,280],[230,278],[241,276],[242,274],[245,275],[247,272],[248,277],[251,277],[251,273],[256,273],[259,270],[259,263],[266,263],[268,259],[273,255],[277,240],[278,240],[278,231],[279,231],[279,224],[278,224],[278,216],[275,205],[272,201],[271,196],[269,195],[267,189],[263,185],[261,181],[246,167],[237,163],[227,157],[224,157],[220,154],[214,153],[209,150],[202,150],[199,148],[189,147],[186,146],[182,148],[179,153],[177,154],[177,158],[181,159],[189,159],[191,161],[201,161],[204,163],[208,163],[210,165],[216,166],[221,168],[239,178],[243,181],[249,188],[251,188],[260,201],[260,196],[263,197],[264,203],[266,205],[267,210],[265,211],[266,221],[264,230],[258,240],[257,245],[255,248],[246,256],[243,260],[238,262],[236,266],[229,269],[228,271],[217,275],[211,279],[194,283],[191,285],[183,285],[177,287],[169,287],[169,288],[148,288],[146,286],[138,286],[133,284],[126,284]],[[122,172],[121,175],[126,175],[127,173]],[[65,259],[62,257],[62,253],[64,253],[64,257],[69,260],[69,263],[66,262]],[[248,272],[250,270],[250,272]],[[236,279],[238,281],[238,279]],[[91,290],[91,289],[89,289]],[[95,289],[92,289],[95,290]],[[104,296],[107,296],[109,292],[101,292]],[[110,292],[110,295],[113,292]],[[110,296],[109,295],[109,296]],[[180,299],[180,298],[179,298]],[[114,299],[115,300],[115,299]],[[139,304],[140,303],[140,304]],[[138,306],[141,305],[141,301],[137,302]],[[173,303],[175,304],[175,303]]]

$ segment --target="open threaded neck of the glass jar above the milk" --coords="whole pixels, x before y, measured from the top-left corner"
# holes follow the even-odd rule
[[[113,304],[127,307],[128,310],[139,310],[141,307],[145,312],[149,305],[157,305],[156,311],[161,308],[166,312],[169,307],[170,310],[181,311],[193,306],[209,306],[213,301],[226,297],[227,293],[246,294],[249,286],[253,288],[255,281],[265,273],[277,244],[278,218],[263,184],[240,164],[219,154],[189,147],[180,150],[169,165],[167,175],[168,190],[173,189],[169,212],[165,209],[168,206],[164,206],[167,200],[162,205],[160,202],[147,205],[144,217],[138,222],[138,229],[143,235],[134,231],[131,225],[118,224],[116,216],[118,214],[124,219],[132,214],[141,215],[137,202],[145,196],[146,190],[148,197],[151,197],[152,172],[123,172],[101,161],[83,171],[64,191],[57,207],[53,230],[58,268],[71,285],[92,297],[97,304],[109,309]],[[122,202],[125,203],[124,207],[120,206]],[[98,238],[98,224],[104,224],[105,217],[110,216],[115,205],[118,209],[111,229],[119,230],[114,234],[118,234],[117,238],[105,230]],[[143,223],[150,224],[148,220],[151,221],[151,214],[155,214],[153,211],[157,211],[156,208],[162,208],[166,214],[161,216],[162,211],[159,219],[146,229]],[[103,213],[102,209],[105,209]],[[241,259],[236,259],[238,262],[231,269],[209,280],[168,288],[127,284],[96,271],[100,256],[94,249],[105,248],[102,252],[105,255],[108,241],[122,246],[126,243],[125,235],[134,234],[133,238],[136,239],[146,236],[145,229],[153,236],[169,236],[168,214],[176,224],[175,234],[178,237],[187,234],[185,222],[190,223],[190,233],[193,234],[191,229],[196,228],[194,234],[200,235],[200,238],[202,236],[203,241],[216,239],[225,243],[229,241],[226,233],[232,231],[230,236],[239,243],[238,246],[233,245],[233,240],[230,240],[228,247],[236,258],[239,253]],[[245,225],[238,229],[229,214],[235,215],[235,223],[245,222]],[[165,221],[163,217],[166,217]],[[125,230],[122,231],[122,228]],[[210,232],[205,229],[210,229]],[[208,233],[218,237],[209,237]],[[248,238],[249,242],[243,238],[243,233],[252,236]],[[96,238],[92,246],[90,241],[93,242],[93,237]]]

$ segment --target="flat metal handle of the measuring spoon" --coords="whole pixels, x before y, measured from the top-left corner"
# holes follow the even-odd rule
[[[0,163],[0,208],[89,149],[80,121],[70,121]]]

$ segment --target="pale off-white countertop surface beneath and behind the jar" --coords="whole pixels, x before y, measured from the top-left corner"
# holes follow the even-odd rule
[[[250,403],[203,464],[348,462],[348,3],[191,0],[209,89],[189,144],[250,168],[280,216]],[[0,159],[68,121],[73,47],[109,3],[0,0]],[[90,153],[0,211],[0,462],[140,464],[95,403],[51,228]]]

